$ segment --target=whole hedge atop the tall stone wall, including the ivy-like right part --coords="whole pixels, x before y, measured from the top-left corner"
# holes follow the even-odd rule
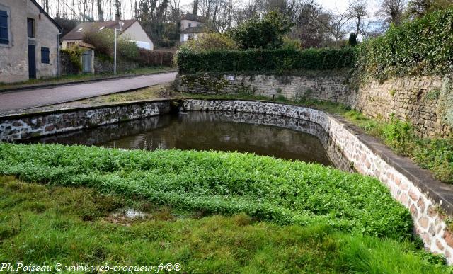
[[[282,72],[356,68],[374,79],[445,75],[453,71],[453,8],[391,28],[357,47],[333,49],[178,52],[181,73]]]

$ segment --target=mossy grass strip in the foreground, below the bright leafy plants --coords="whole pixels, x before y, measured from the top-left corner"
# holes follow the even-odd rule
[[[279,226],[239,214],[207,216],[93,188],[0,176],[0,261],[24,265],[152,266],[181,273],[446,273],[410,241]],[[143,219],[113,215],[122,208]],[[89,271],[88,271],[89,272]]]

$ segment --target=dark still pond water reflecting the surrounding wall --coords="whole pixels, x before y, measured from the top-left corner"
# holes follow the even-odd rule
[[[42,137],[30,142],[122,149],[253,152],[333,166],[323,146],[326,139],[321,126],[305,120],[251,113],[188,112]]]

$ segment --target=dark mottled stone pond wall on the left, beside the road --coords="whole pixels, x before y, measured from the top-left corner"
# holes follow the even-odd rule
[[[0,118],[0,142],[55,135],[170,111],[171,101],[155,101],[4,116]]]

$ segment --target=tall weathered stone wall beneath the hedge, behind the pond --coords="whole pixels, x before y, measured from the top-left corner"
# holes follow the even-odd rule
[[[389,79],[384,83],[370,80],[357,85],[348,72],[338,71],[306,72],[302,76],[192,74],[179,75],[176,89],[201,94],[243,93],[295,101],[305,98],[331,101],[373,118],[390,120],[393,115],[407,119],[420,137],[445,137],[452,134],[453,126],[451,82],[452,76],[447,75]]]

